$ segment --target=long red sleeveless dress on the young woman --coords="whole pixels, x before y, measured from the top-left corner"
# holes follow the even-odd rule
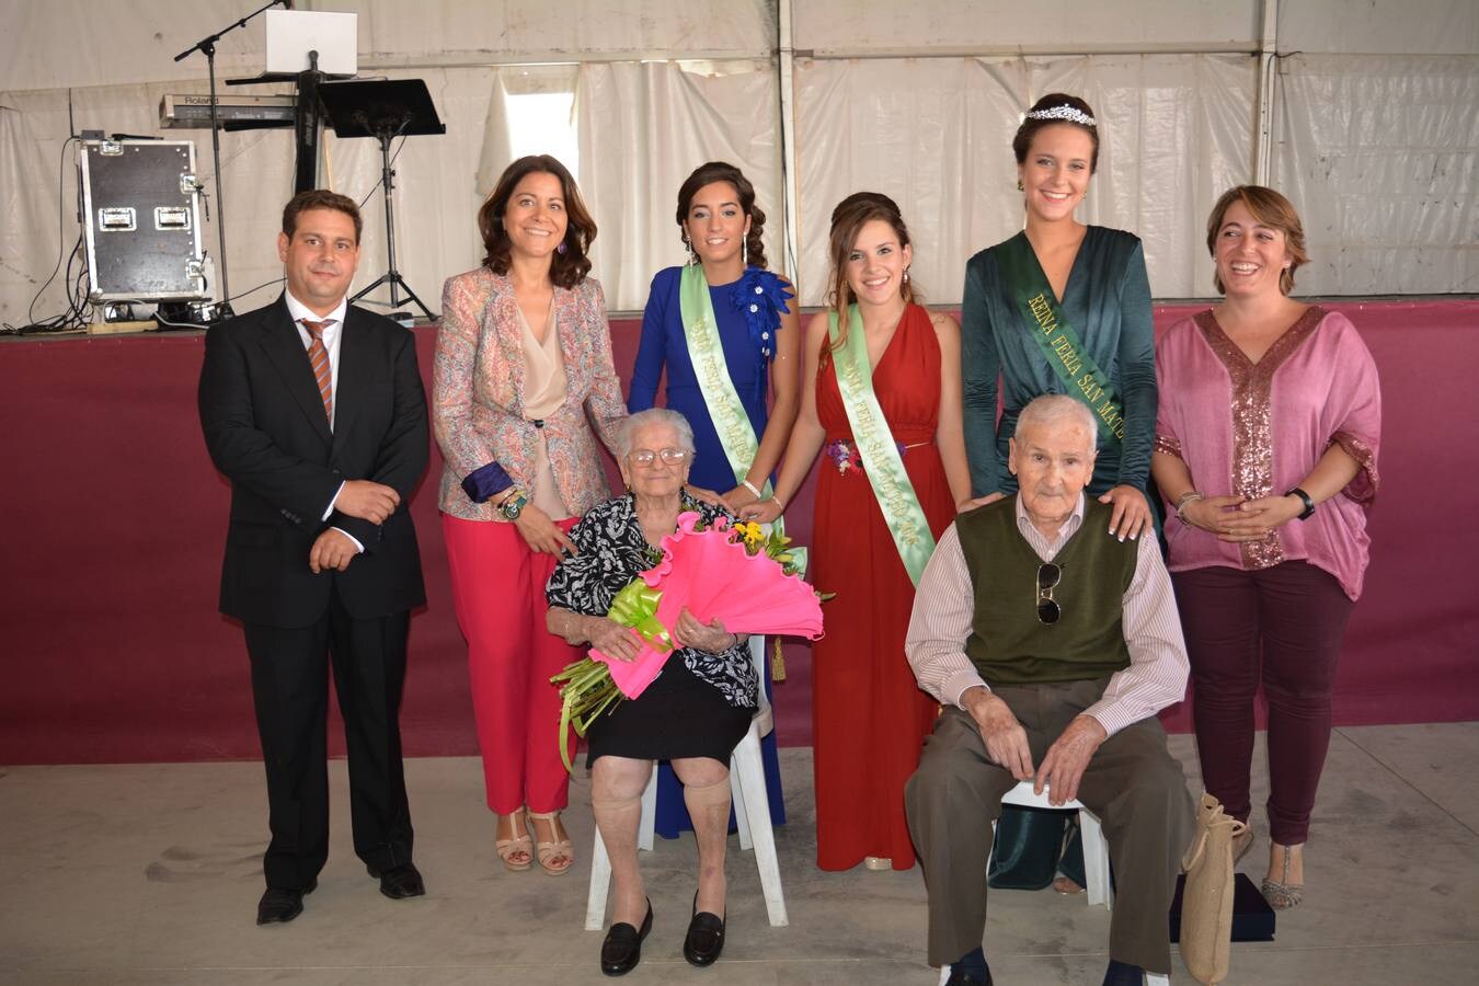
[[[945,467],[935,446],[939,417],[939,340],[917,305],[889,340],[873,371],[873,390],[904,467],[936,538],[955,516]],[[852,441],[847,411],[828,361],[816,375],[816,417],[834,439]],[[816,786],[816,865],[850,869],[864,856],[914,865],[904,820],[904,782],[918,766],[936,704],[918,690],[904,634],[914,584],[859,469],[840,473],[827,451],[816,486],[812,578],[827,636],[812,646],[812,732]]]

